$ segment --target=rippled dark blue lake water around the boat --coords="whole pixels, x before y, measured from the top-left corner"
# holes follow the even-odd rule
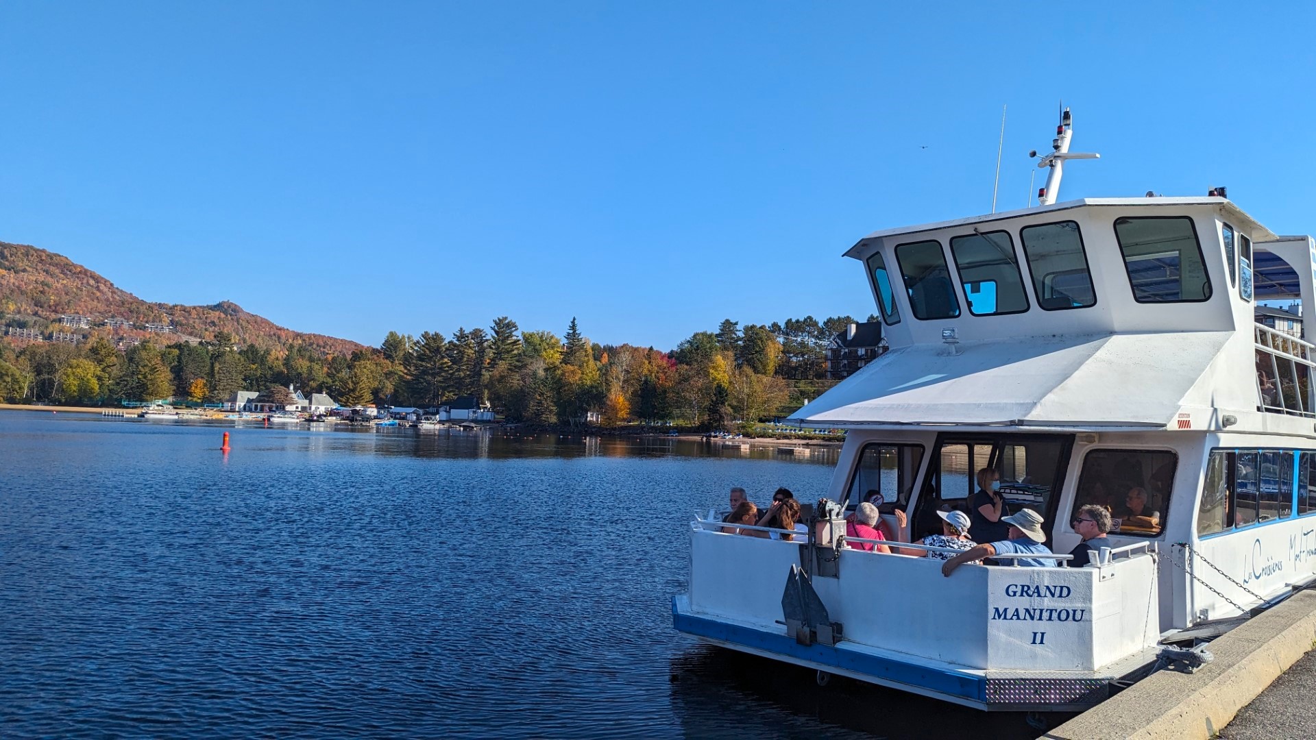
[[[1036,736],[672,631],[695,510],[825,490],[780,457],[0,412],[0,735]]]

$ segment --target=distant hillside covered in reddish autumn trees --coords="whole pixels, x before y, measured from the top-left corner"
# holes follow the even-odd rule
[[[147,303],[62,254],[0,241],[0,317],[18,315],[58,321],[64,313],[91,316],[97,324],[105,319],[172,324],[180,334],[204,340],[213,338],[215,332],[229,332],[241,344],[268,349],[300,342],[325,354],[350,354],[362,346],[286,329],[228,300],[215,305]]]

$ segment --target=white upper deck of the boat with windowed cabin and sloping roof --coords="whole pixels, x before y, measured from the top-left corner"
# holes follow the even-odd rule
[[[1313,436],[1309,348],[1271,346],[1254,321],[1258,299],[1309,304],[1313,254],[1216,196],[874,232],[846,255],[890,352],[795,417]]]

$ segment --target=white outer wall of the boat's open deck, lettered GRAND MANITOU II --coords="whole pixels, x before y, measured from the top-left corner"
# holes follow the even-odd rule
[[[782,591],[801,548],[694,532],[691,608],[783,631]],[[966,565],[945,578],[940,561],[842,550],[840,568],[838,578],[813,585],[845,639],[915,658],[1095,670],[1154,644],[1159,633],[1155,568],[1145,554],[1082,569]]]

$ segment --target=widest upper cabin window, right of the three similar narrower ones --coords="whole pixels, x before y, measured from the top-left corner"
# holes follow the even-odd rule
[[[1192,303],[1211,298],[1211,279],[1192,219],[1116,219],[1115,237],[1138,303]]]

